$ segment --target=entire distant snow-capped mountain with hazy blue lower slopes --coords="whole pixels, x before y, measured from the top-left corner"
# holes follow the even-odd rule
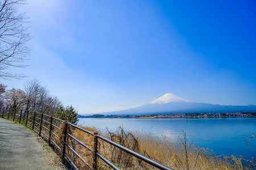
[[[256,105],[219,105],[197,103],[182,99],[168,93],[148,104],[130,108],[123,111],[106,112],[102,114],[153,114],[153,113],[204,113],[204,112],[245,112],[256,111]]]

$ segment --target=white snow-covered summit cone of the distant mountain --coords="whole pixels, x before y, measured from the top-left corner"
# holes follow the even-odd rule
[[[164,103],[170,103],[170,102],[186,102],[187,103],[187,102],[191,102],[191,101],[182,99],[179,96],[169,93],[169,94],[165,94],[165,95],[159,97],[158,99],[156,99],[154,101],[151,101],[150,104],[154,104],[154,103],[164,104]]]

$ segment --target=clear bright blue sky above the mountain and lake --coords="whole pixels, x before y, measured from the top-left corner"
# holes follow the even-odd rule
[[[256,105],[255,1],[28,0],[35,77],[80,114],[125,109],[171,92]]]

